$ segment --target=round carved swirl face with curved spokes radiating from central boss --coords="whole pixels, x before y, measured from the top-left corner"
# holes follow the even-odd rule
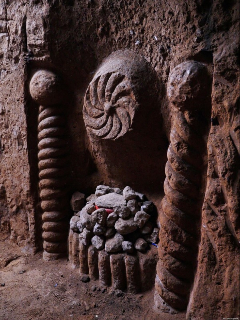
[[[83,108],[87,130],[115,140],[132,126],[137,108],[130,81],[120,72],[97,75],[89,84]]]

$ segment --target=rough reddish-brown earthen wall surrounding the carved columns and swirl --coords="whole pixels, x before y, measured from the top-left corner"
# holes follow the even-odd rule
[[[113,51],[125,49],[142,56],[159,79],[158,92],[150,95],[154,102],[152,113],[145,118],[145,131],[140,132],[138,143],[135,138],[134,143],[124,140],[124,149],[119,143],[128,133],[134,134],[133,130],[116,141],[99,138],[97,148],[92,149],[82,116],[84,96],[104,59]],[[198,266],[187,318],[236,317],[239,316],[238,0],[28,3],[1,0],[0,236],[28,252],[43,245],[37,166],[39,105],[29,92],[30,80],[37,70],[54,71],[70,88],[66,119],[72,193],[90,195],[103,183],[114,187],[130,185],[145,193],[161,212],[164,168],[174,121],[167,82],[170,72],[189,60],[206,65],[213,81]],[[142,92],[142,97],[141,101],[148,105],[147,92]],[[109,157],[107,153],[99,156],[99,150],[106,148],[103,143],[110,150],[114,148],[112,156],[111,153]],[[154,158],[151,150],[157,150],[153,152]],[[121,166],[128,168],[128,174],[125,169],[121,172]],[[75,257],[78,254],[75,252]]]

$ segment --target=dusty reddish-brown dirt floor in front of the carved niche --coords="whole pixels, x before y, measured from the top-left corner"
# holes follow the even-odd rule
[[[1,320],[183,320],[185,314],[159,314],[153,292],[117,297],[97,282],[82,283],[67,259],[46,262],[0,242]]]

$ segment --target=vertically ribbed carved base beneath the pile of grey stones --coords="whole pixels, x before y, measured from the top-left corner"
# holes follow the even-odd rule
[[[70,232],[69,260],[71,268],[79,268],[80,275],[88,274],[91,280],[99,280],[100,287],[112,287],[113,290],[138,293],[152,288],[158,260],[155,247],[151,247],[147,253],[109,254],[80,242],[77,250],[78,237],[75,235],[78,236]]]

